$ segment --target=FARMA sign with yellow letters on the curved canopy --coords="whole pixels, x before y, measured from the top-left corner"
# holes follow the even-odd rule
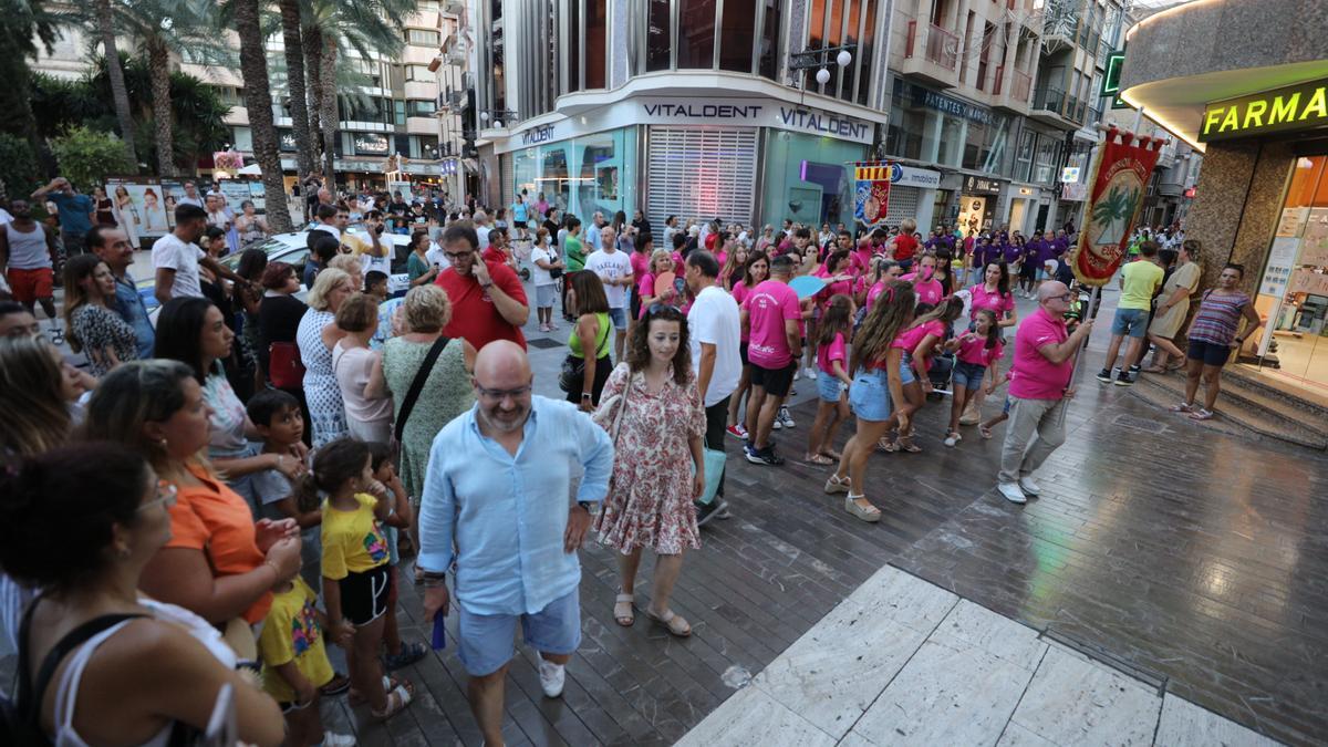
[[[1208,104],[1199,142],[1328,126],[1328,80]]]

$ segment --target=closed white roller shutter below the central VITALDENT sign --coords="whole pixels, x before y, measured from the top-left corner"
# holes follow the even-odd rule
[[[752,225],[757,130],[661,128],[649,130],[649,215],[720,218]]]

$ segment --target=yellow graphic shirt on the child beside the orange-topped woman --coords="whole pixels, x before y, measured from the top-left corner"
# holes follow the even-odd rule
[[[272,594],[272,609],[263,622],[258,651],[263,658],[263,690],[278,703],[293,703],[296,699],[295,689],[276,671],[282,665],[293,661],[315,687],[332,681],[332,663],[328,662],[323,629],[319,627],[317,601],[319,595],[299,576],[290,590]]]

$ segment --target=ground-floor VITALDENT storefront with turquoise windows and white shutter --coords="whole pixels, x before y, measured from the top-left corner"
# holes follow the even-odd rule
[[[503,203],[526,190],[583,219],[643,210],[742,225],[851,225],[846,163],[875,124],[770,98],[628,98],[490,138]]]

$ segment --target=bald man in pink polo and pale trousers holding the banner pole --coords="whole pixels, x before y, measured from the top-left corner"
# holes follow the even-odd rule
[[[1037,288],[1037,311],[1020,322],[1015,332],[1009,425],[996,482],[1000,494],[1015,504],[1041,492],[1033,471],[1065,443],[1061,409],[1074,395],[1070,388],[1074,355],[1093,330],[1093,319],[1085,319],[1073,332],[1066,331],[1065,312],[1072,300],[1074,294],[1065,283],[1044,282]]]

